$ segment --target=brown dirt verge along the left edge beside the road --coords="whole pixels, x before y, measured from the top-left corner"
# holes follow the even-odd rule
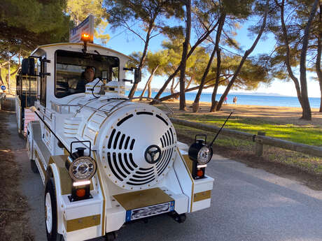
[[[7,122],[7,113],[0,110],[0,240],[32,241],[34,238],[29,233],[27,198],[16,188],[22,170],[13,161]]]

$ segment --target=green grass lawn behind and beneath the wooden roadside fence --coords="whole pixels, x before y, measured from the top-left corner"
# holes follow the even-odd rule
[[[187,113],[176,113],[174,118],[185,119],[191,122],[201,122],[203,124],[221,126],[226,117],[216,115],[195,115]],[[174,125],[179,139],[181,138],[187,144],[193,143],[197,133],[206,133],[206,131],[193,129],[186,126]],[[260,117],[230,117],[225,128],[256,134],[258,131],[265,131],[266,136],[290,140],[295,143],[304,143],[307,145],[322,146],[322,126],[294,124],[281,124],[278,122],[269,122]],[[207,140],[211,141],[215,133],[207,133]],[[185,139],[186,138],[186,139]],[[255,143],[246,140],[239,140],[227,136],[219,135],[214,145],[214,152],[232,159],[253,159],[253,161],[269,161],[272,163],[282,163],[285,166],[292,166],[307,173],[322,175],[322,158],[309,156],[300,152],[293,152],[277,147],[264,146],[262,157],[258,158],[254,154]]]

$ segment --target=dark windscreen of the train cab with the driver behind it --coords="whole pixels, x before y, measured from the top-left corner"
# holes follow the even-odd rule
[[[118,81],[120,61],[118,57],[57,50],[55,68],[55,96],[62,98],[85,92],[87,82],[96,78]]]

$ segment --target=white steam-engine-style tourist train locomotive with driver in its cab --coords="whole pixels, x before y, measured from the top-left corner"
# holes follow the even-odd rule
[[[42,45],[22,61],[18,130],[45,186],[49,241],[114,240],[131,221],[183,222],[211,203],[211,148],[196,140],[188,155],[167,109],[125,97],[126,73],[141,78],[129,60],[85,41]]]

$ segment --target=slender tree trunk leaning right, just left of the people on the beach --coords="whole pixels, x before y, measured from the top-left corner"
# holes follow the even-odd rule
[[[232,79],[228,83],[228,86],[226,87],[225,92],[223,93],[223,95],[221,96],[220,101],[218,102],[217,110],[221,110],[221,106],[223,105],[223,101],[225,101],[225,98],[226,98],[226,96],[228,96],[228,93],[230,92],[230,89],[231,89],[232,85],[234,85],[234,82],[237,79],[237,76],[239,75],[239,72],[241,71],[241,67],[244,65],[244,62],[246,61],[248,55],[251,54],[251,52],[253,52],[253,50],[255,49],[258,41],[260,40],[260,37],[262,36],[262,32],[264,31],[265,26],[266,26],[268,8],[269,8],[269,0],[266,0],[264,20],[262,20],[262,26],[260,27],[260,31],[258,33],[258,36],[255,39],[253,45],[251,45],[251,48],[246,50],[246,52],[244,53],[244,56],[241,58],[241,61],[239,63],[239,66],[238,66],[237,70],[235,71],[234,75],[232,76]]]

